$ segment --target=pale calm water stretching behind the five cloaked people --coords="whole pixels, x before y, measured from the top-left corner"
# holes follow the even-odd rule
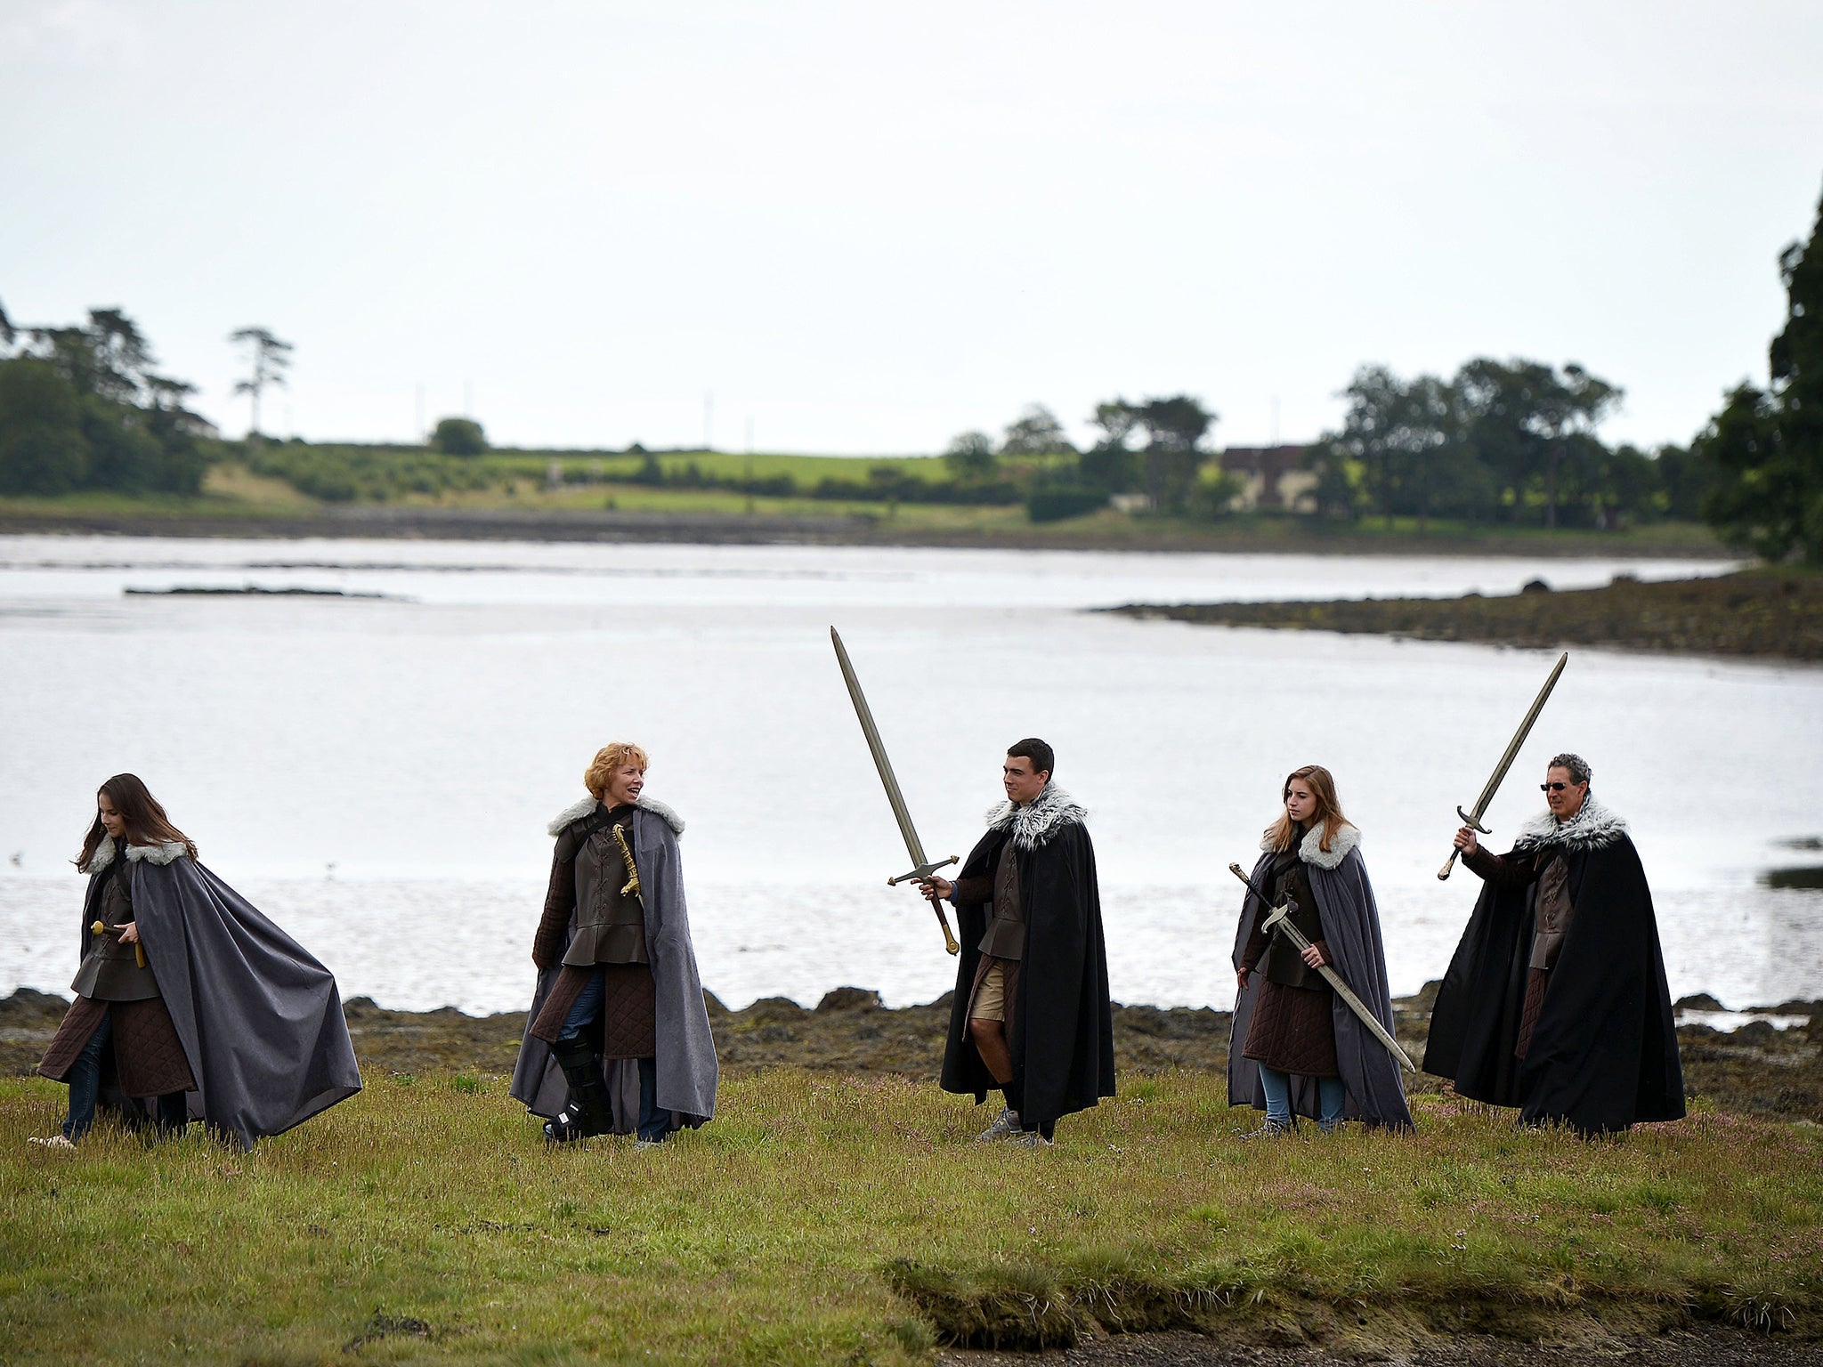
[[[609,738],[653,753],[684,838],[704,982],[928,1001],[952,961],[884,879],[904,849],[829,651],[842,629],[926,846],[964,853],[1021,735],[1090,807],[1116,997],[1232,999],[1236,891],[1280,778],[1336,771],[1393,986],[1437,977],[1475,897],[1437,882],[1551,656],[1194,629],[1132,600],[1511,592],[1714,563],[1141,556],[800,547],[0,538],[0,992],[66,990],[95,784],[131,769],[202,858],[345,995],[509,1010],[545,822]],[[381,598],[162,598],[314,587]],[[1823,995],[1823,671],[1581,651],[1489,813],[1595,766],[1653,880],[1674,992]]]

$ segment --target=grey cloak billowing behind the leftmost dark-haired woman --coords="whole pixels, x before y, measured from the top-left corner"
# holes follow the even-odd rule
[[[197,1081],[191,1117],[252,1148],[359,1092],[335,975],[182,844],[126,857],[146,962]]]

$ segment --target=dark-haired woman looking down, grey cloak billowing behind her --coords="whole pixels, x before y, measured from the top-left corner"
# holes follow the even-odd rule
[[[38,1072],[69,1084],[69,1148],[106,1099],[250,1145],[361,1090],[335,979],[228,884],[129,773],[95,795],[75,1001]]]

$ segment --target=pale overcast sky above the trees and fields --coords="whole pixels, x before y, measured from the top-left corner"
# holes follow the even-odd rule
[[[0,304],[120,306],[226,434],[897,454],[1360,365],[1765,379],[1814,0],[0,0]]]

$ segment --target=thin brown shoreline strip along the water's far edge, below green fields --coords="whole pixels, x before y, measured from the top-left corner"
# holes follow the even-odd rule
[[[645,512],[580,509],[439,509],[414,505],[319,507],[257,512],[197,499],[146,509],[36,507],[0,499],[0,536],[88,534],[232,540],[580,541],[695,545],[860,545],[1004,550],[1136,550],[1349,556],[1509,556],[1730,560],[1737,552],[1705,529],[1637,527],[1621,532],[1478,527],[1473,530],[1309,525],[1287,518],[1214,523],[1092,514],[1061,523],[994,519],[932,523],[910,512],[866,516]]]

